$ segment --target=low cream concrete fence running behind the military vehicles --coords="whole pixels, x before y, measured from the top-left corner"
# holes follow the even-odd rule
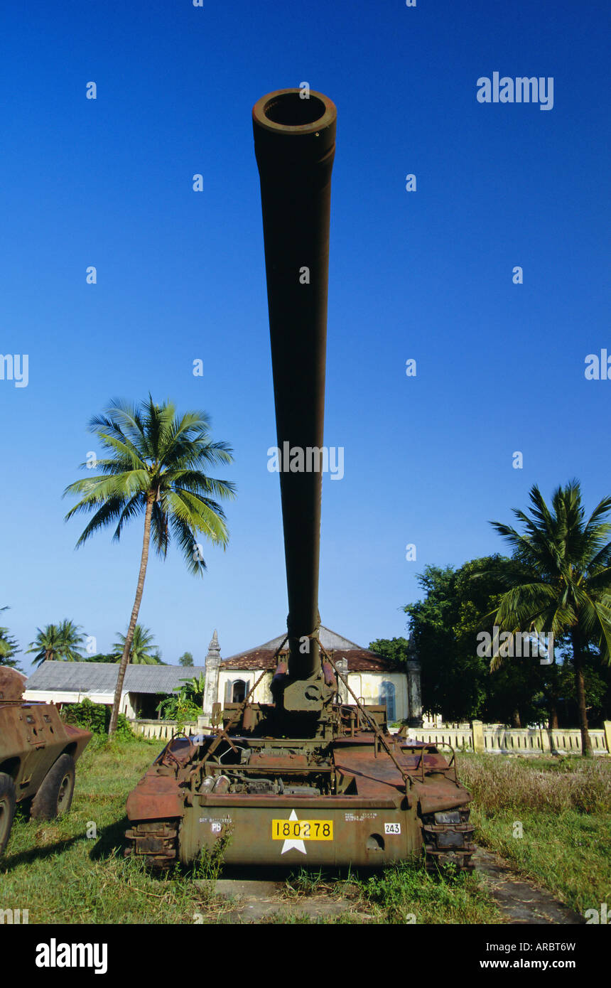
[[[178,730],[176,720],[133,720],[136,734],[146,738],[169,741]],[[207,731],[204,717],[196,723],[184,724],[185,734],[192,737]],[[397,729],[393,729],[396,733]],[[474,720],[459,727],[408,727],[407,736],[412,741],[431,744],[449,744],[457,751],[475,751],[486,755],[580,755],[581,732],[578,727],[546,730],[543,727],[505,727],[502,724],[483,724]],[[604,727],[589,731],[594,755],[611,755],[611,720]]]

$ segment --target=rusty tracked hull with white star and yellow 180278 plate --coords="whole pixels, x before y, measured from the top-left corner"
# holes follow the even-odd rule
[[[177,737],[162,751],[127,801],[129,854],[162,868],[225,838],[226,864],[377,866],[425,854],[432,866],[470,866],[471,795],[453,754],[383,730],[327,744],[217,740]]]

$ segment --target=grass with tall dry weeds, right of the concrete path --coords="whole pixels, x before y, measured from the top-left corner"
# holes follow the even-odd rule
[[[611,901],[610,760],[463,755],[459,769],[476,843],[581,915]]]

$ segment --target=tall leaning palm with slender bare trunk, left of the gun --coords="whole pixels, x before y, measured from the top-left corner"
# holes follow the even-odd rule
[[[95,416],[89,430],[109,453],[99,459],[102,473],[70,484],[66,494],[83,495],[66,515],[95,512],[77,541],[82,545],[99,529],[113,525],[119,539],[123,526],[144,515],[140,571],[131,617],[125,635],[109,733],[113,734],[129,651],[140,610],[151,535],[158,554],[165,558],[171,536],[181,548],[191,573],[206,568],[197,535],[226,547],[225,514],[214,498],[232,498],[234,484],[207,476],[204,468],[231,463],[226,443],[212,443],[210,421],[204,412],[179,417],[171,402],[156,405],[149,395],[139,406],[114,401],[104,415]],[[82,466],[86,466],[83,463]]]

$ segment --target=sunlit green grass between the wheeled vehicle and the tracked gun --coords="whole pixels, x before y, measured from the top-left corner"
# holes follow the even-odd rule
[[[94,737],[77,763],[66,816],[27,821],[18,809],[0,862],[1,908],[28,909],[30,923],[43,924],[195,922],[205,889],[178,869],[160,880],[122,857],[127,793],[159,747]]]

